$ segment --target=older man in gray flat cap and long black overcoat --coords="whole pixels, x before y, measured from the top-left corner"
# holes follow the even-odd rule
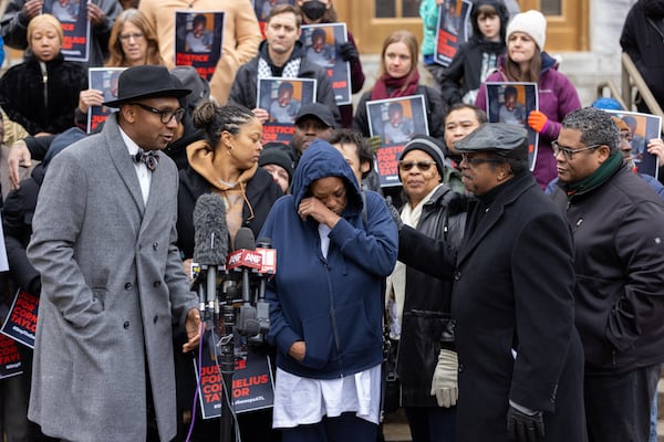
[[[400,231],[400,261],[453,278],[457,440],[585,441],[571,233],[528,170],[526,130],[488,123],[455,144],[470,202],[455,250]]]

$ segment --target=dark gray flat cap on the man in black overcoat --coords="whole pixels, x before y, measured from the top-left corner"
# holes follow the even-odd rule
[[[490,151],[508,158],[528,159],[528,133],[505,123],[485,123],[454,144],[463,152]]]

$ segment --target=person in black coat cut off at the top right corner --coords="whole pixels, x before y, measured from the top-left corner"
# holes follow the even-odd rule
[[[664,108],[664,0],[639,0],[625,19],[620,45]],[[639,112],[652,113],[637,97]]]

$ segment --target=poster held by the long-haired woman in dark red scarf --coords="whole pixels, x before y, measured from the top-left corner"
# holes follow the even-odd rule
[[[366,102],[369,131],[381,137],[376,172],[382,187],[401,186],[398,156],[415,134],[428,135],[423,95]]]

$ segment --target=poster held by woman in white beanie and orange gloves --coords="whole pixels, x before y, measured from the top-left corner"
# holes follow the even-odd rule
[[[485,83],[489,123],[507,123],[528,130],[528,164],[535,170],[539,134],[528,126],[528,115],[539,109],[537,83]]]

